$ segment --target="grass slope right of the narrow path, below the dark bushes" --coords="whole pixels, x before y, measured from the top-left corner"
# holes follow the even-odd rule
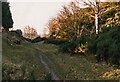
[[[100,76],[112,70],[105,62],[96,63],[92,57],[70,56],[68,53],[58,51],[59,46],[53,44],[35,43],[38,50],[45,53],[55,64],[55,73],[61,79],[66,80],[98,80]]]

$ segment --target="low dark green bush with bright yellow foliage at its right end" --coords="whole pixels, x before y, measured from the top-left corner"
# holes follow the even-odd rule
[[[84,50],[86,50],[85,47],[86,41],[87,41],[87,37],[82,36],[81,38],[78,38],[74,41],[66,42],[60,45],[60,50],[63,52],[70,52],[72,54],[83,54],[85,53]],[[80,52],[80,49],[83,50]]]

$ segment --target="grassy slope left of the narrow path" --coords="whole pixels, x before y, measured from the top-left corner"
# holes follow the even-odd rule
[[[3,34],[3,80],[43,79],[45,70],[39,51],[27,41],[22,41],[21,45],[10,45],[6,36],[9,35]]]

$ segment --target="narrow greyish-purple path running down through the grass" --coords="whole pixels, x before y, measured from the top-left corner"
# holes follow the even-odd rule
[[[52,78],[54,80],[59,80],[59,78],[56,76],[56,74],[54,72],[55,69],[56,69],[54,63],[45,54],[43,54],[43,53],[40,53],[40,54],[41,54],[40,55],[40,60],[41,60],[42,64],[44,65],[46,71],[48,71],[49,73],[51,73]],[[51,69],[49,68],[48,64],[44,62],[42,56],[44,56],[48,60],[49,64],[51,65]]]

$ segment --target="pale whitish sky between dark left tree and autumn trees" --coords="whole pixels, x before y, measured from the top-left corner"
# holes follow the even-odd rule
[[[25,1],[25,2],[24,2]],[[9,0],[12,18],[14,21],[13,29],[21,29],[25,26],[33,27],[37,33],[42,35],[48,20],[55,17],[62,8],[71,0]]]

